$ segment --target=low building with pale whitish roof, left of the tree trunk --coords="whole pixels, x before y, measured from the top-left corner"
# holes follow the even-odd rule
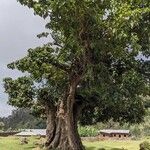
[[[46,129],[24,129],[21,132],[15,134],[16,136],[46,136]]]

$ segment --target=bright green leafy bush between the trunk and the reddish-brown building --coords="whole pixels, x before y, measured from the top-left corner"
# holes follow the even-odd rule
[[[79,126],[78,131],[81,137],[94,137],[98,135],[98,129],[93,126]]]

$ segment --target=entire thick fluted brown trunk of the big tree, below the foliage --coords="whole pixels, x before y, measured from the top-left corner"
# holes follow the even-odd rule
[[[73,104],[64,103],[68,100]],[[80,110],[81,106],[75,102],[71,94],[60,102],[57,110],[47,108],[47,140],[45,144],[47,150],[84,149],[77,130]]]

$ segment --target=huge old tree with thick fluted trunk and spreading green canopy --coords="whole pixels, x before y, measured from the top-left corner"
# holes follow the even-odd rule
[[[49,32],[38,37],[51,35],[53,41],[30,49],[26,57],[9,64],[9,68],[27,71],[30,77],[21,78],[20,84],[6,79],[5,88],[12,104],[40,101],[46,109],[48,149],[84,149],[77,132],[83,104],[83,112],[88,114],[91,110],[95,114],[92,122],[107,116],[141,120],[141,97],[150,94],[149,61],[139,58],[150,56],[148,1],[19,2],[47,18]],[[20,87],[18,91],[11,92],[13,85]],[[37,91],[35,95],[33,89]]]

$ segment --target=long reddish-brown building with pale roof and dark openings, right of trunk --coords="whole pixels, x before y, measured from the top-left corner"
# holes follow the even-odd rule
[[[100,130],[99,138],[101,139],[128,139],[130,137],[129,130]]]

